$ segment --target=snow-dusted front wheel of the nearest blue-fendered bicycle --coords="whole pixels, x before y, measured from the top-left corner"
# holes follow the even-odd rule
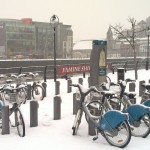
[[[81,123],[82,113],[83,113],[82,110],[78,109],[77,114],[75,116],[74,124],[73,124],[73,127],[72,127],[72,130],[73,130],[72,135],[76,135],[77,134],[79,125]]]

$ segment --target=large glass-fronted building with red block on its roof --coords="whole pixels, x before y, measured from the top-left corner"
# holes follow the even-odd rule
[[[73,47],[71,25],[59,23],[55,33],[57,58],[70,58]],[[11,58],[53,58],[54,29],[50,23],[0,19],[0,56]]]

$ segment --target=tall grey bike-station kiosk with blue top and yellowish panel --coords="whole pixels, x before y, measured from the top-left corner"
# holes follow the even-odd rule
[[[106,81],[106,55],[107,55],[107,42],[103,40],[93,40],[93,49],[90,56],[90,78],[89,86],[96,86],[99,90],[99,85]],[[99,95],[91,95],[91,99],[99,99]],[[95,115],[97,111],[93,108]],[[89,135],[96,135],[94,124],[89,121],[88,127]]]

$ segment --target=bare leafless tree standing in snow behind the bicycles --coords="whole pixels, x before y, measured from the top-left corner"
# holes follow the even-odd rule
[[[123,29],[123,26],[120,24],[116,26],[110,25],[110,27],[114,30],[114,35],[119,35],[121,38],[125,39],[130,46],[133,49],[134,53],[134,69],[135,69],[135,80],[138,79],[137,75],[137,61],[136,61],[136,49],[135,49],[135,38],[136,38],[136,31],[135,31],[135,25],[136,25],[136,20],[134,18],[128,18],[129,23],[131,23],[131,30],[125,30]],[[126,31],[126,32],[125,32]]]

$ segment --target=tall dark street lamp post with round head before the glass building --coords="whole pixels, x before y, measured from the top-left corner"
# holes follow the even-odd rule
[[[59,18],[57,15],[53,15],[50,18],[50,25],[54,29],[54,82],[57,78],[57,69],[56,69],[56,28],[59,24]]]

